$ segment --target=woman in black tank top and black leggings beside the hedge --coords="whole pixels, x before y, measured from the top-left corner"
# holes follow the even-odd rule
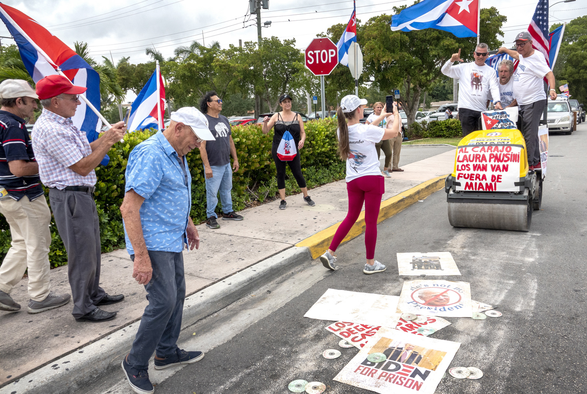
[[[273,161],[275,162],[275,167],[277,168],[277,188],[279,189],[279,197],[281,197],[281,203],[279,204],[279,209],[285,209],[286,202],[285,202],[285,166],[289,165],[289,169],[291,169],[292,174],[294,174],[294,178],[298,182],[299,188],[302,190],[303,193],[303,200],[308,203],[309,206],[315,205],[315,202],[312,201],[310,196],[308,195],[308,188],[306,188],[306,180],[303,178],[302,175],[302,166],[299,161],[300,157],[300,150],[303,147],[303,143],[306,140],[306,133],[303,131],[303,121],[301,117],[299,117],[298,113],[292,112],[292,98],[289,97],[288,94],[284,94],[283,96],[279,97],[279,105],[281,106],[282,111],[273,114],[271,118],[266,116],[263,119],[263,134],[269,133],[269,130],[275,128],[273,134],[273,144],[271,147],[271,155],[273,157]],[[279,143],[281,142],[282,137],[284,136],[285,131],[289,131],[289,133],[294,137],[294,141],[296,147],[298,148],[298,154],[296,154],[295,158],[292,161],[281,161],[277,156],[277,148],[279,147]]]

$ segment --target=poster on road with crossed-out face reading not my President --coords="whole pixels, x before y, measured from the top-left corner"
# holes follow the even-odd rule
[[[426,316],[471,317],[471,287],[448,280],[405,281],[397,313]]]

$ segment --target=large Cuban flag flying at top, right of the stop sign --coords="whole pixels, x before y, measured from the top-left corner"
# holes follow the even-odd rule
[[[438,29],[459,38],[477,37],[478,0],[423,0],[392,16],[392,30]]]

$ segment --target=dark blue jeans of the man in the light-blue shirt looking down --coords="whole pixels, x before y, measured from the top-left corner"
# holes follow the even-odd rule
[[[134,254],[130,258],[134,261]],[[153,277],[145,285],[149,305],[129,353],[129,364],[136,369],[147,369],[153,352],[157,357],[176,353],[185,299],[183,254],[149,250],[149,258],[153,267]]]

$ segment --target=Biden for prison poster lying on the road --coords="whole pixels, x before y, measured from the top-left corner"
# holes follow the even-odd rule
[[[381,328],[334,380],[381,394],[433,394],[460,345]],[[369,361],[372,353],[384,361]]]

